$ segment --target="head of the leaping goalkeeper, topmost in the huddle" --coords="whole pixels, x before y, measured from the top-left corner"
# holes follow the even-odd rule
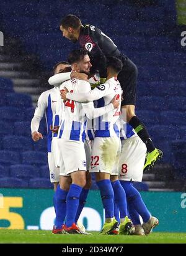
[[[60,30],[63,33],[63,36],[73,42],[78,40],[81,26],[81,20],[73,14],[68,14],[63,19],[61,19],[60,22]]]

